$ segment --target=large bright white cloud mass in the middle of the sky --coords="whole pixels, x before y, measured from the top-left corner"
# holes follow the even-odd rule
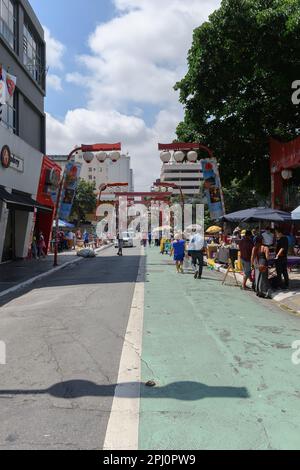
[[[186,72],[193,30],[220,0],[114,0],[114,4],[115,18],[95,29],[88,42],[90,53],[78,57],[82,72],[66,76],[81,93],[87,92],[87,109],[68,112],[63,123],[49,117],[48,149],[66,152],[78,139],[81,143],[121,140],[123,150],[133,157],[137,189],[149,188],[160,173],[157,143],[174,139],[183,116],[173,87]],[[159,109],[152,127],[142,119],[145,105]],[[134,115],[128,115],[128,109]]]

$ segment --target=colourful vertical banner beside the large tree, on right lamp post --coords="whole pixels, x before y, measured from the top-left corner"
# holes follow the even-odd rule
[[[225,213],[222,186],[218,164],[215,159],[202,160],[204,190],[210,216],[213,220],[219,219]]]

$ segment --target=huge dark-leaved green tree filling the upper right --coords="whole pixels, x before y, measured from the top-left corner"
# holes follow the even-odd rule
[[[234,179],[270,191],[269,138],[300,134],[292,83],[300,79],[300,0],[223,0],[194,31],[188,72],[176,84],[179,140],[201,141]]]

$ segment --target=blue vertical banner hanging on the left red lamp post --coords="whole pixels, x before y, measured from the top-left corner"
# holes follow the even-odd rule
[[[81,164],[69,162],[65,169],[65,184],[61,195],[59,218],[66,220],[70,217],[78,185]]]

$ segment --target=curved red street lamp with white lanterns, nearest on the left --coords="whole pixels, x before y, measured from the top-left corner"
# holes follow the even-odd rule
[[[94,154],[96,152],[98,153],[97,159],[99,160],[99,155],[101,153],[105,153],[105,158],[104,160],[108,157],[108,154],[106,152],[112,152],[113,156],[111,156],[111,160],[113,162],[117,162],[120,157],[121,157],[121,143],[117,144],[92,144],[92,145],[81,145],[81,146],[76,146],[68,155],[67,162],[71,160],[71,158],[76,154],[76,153],[82,153],[83,154],[83,159],[86,163],[91,163],[94,159]],[[102,158],[102,157],[101,157]],[[104,162],[103,160],[103,162]],[[61,206],[61,197],[62,197],[62,192],[63,192],[63,187],[66,181],[66,168],[67,165],[65,166],[63,176],[61,178],[60,184],[59,184],[59,190],[58,190],[58,196],[57,196],[57,201],[56,201],[56,208],[55,208],[55,245],[54,245],[54,266],[58,266],[57,258],[58,258],[58,226],[59,226],[59,211],[60,211],[60,206]]]

